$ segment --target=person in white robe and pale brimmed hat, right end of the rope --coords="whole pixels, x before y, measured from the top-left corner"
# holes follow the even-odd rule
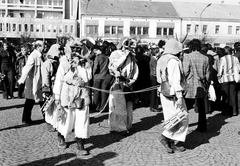
[[[183,98],[185,89],[185,78],[183,76],[182,63],[178,56],[182,52],[182,44],[175,39],[166,42],[165,50],[157,62],[157,81],[160,83],[160,99],[163,108],[164,121],[167,121],[179,112],[180,109],[187,109]],[[166,97],[161,90],[163,82],[168,81],[170,95]],[[165,129],[160,137],[168,153],[184,151],[184,147],[176,146],[175,141],[184,142],[188,131],[188,118],[184,118],[171,129]]]

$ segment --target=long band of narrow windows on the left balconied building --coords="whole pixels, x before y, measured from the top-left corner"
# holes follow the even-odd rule
[[[0,23],[0,32],[53,32],[53,33],[73,33],[73,25],[48,25],[44,24],[9,24]],[[46,29],[46,30],[45,30]]]

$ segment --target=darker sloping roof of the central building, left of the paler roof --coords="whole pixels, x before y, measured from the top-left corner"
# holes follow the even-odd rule
[[[83,14],[116,17],[179,18],[171,2],[82,0]]]

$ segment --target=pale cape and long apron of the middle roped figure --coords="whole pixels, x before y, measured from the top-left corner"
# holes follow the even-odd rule
[[[115,76],[115,83],[109,95],[109,130],[128,133],[132,128],[134,99],[122,92],[132,90],[132,84],[139,73],[138,66],[129,50],[116,50],[111,53],[109,59],[110,73]]]

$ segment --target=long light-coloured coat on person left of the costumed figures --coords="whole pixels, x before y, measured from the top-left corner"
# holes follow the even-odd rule
[[[19,83],[25,82],[25,98],[35,100],[35,102],[42,101],[42,77],[41,59],[42,54],[38,50],[34,50],[28,57],[27,63],[22,70],[22,76]]]

